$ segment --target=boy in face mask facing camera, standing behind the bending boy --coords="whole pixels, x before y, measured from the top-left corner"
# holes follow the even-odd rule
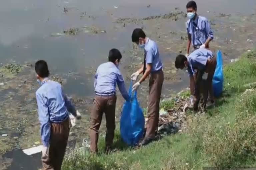
[[[194,49],[209,48],[209,42],[213,39],[213,32],[207,18],[197,14],[197,5],[195,1],[187,3],[187,17],[189,20],[186,23],[188,33],[188,44],[186,57],[189,54],[190,45]]]

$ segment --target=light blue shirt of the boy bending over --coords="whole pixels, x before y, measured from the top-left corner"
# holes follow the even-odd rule
[[[188,73],[190,76],[195,74],[195,69],[205,70],[208,58],[212,58],[212,51],[206,48],[199,48],[188,56]]]

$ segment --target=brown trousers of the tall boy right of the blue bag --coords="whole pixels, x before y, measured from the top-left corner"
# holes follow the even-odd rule
[[[148,96],[148,122],[147,138],[155,138],[155,130],[159,121],[159,103],[164,82],[164,73],[162,70],[151,73],[149,79],[149,96]]]

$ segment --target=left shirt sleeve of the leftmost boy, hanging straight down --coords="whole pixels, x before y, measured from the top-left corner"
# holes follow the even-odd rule
[[[48,107],[46,106],[46,102],[44,102],[43,97],[38,93],[36,93],[36,101],[38,107],[39,122],[41,124],[42,144],[48,147],[51,134]]]

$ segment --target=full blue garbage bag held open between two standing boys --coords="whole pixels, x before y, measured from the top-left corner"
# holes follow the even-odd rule
[[[137,91],[132,92],[132,82],[129,88],[130,101],[125,101],[120,120],[120,132],[123,141],[129,146],[136,145],[141,139],[145,118],[137,100]]]

